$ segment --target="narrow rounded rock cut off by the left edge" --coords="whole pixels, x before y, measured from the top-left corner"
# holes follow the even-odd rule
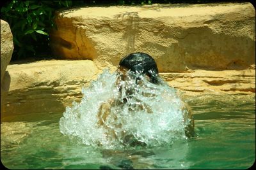
[[[12,59],[13,41],[10,26],[1,20],[1,85],[6,67]]]

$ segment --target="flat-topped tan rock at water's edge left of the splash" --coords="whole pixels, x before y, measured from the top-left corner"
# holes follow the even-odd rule
[[[11,64],[7,68],[11,83],[1,103],[1,122],[17,114],[58,113],[83,96],[81,88],[97,78],[91,60],[46,60]]]

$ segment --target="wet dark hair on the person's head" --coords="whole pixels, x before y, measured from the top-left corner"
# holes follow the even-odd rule
[[[147,53],[130,53],[120,60],[119,66],[135,73],[146,74],[150,78],[151,83],[159,83],[156,61]]]

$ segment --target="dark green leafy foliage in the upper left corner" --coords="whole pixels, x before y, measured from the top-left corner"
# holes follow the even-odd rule
[[[1,8],[1,19],[10,24],[14,51],[12,60],[49,53],[49,31],[54,11],[72,1],[10,1]]]

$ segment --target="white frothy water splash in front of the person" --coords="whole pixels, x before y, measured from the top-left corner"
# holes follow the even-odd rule
[[[176,90],[163,80],[156,85],[132,72],[127,77],[120,80],[120,74],[104,70],[82,89],[81,103],[66,108],[61,133],[103,148],[159,146],[186,139],[188,111],[182,110]]]

